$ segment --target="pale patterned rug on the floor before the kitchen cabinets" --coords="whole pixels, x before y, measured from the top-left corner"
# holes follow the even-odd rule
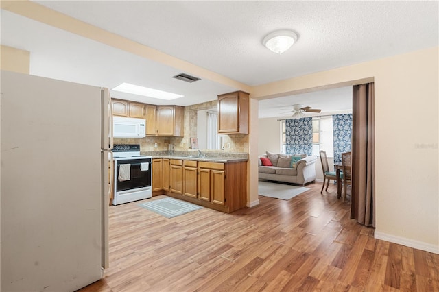
[[[180,199],[166,197],[165,199],[154,199],[151,202],[139,204],[142,208],[156,212],[167,218],[176,217],[203,208]]]

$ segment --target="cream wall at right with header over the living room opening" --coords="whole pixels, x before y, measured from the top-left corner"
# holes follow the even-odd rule
[[[434,47],[256,86],[252,92],[252,98],[265,99],[375,80],[375,236],[436,253],[438,56]]]

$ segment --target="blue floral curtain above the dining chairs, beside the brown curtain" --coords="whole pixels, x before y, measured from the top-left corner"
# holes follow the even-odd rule
[[[334,162],[342,162],[342,153],[351,151],[352,114],[332,116],[334,135]]]

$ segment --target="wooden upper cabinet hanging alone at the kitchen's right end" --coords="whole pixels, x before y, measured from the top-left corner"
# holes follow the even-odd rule
[[[218,133],[248,134],[248,105],[244,91],[218,95]]]

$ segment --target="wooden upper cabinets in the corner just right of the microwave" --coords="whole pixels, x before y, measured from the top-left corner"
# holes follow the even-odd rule
[[[183,106],[146,105],[147,136],[183,136],[185,108]]]

